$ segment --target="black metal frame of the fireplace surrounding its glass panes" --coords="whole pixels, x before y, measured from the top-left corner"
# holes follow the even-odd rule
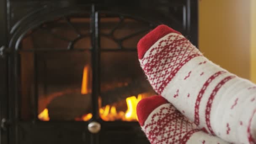
[[[177,0],[173,0],[175,3],[179,3]],[[10,3],[9,1],[7,3]],[[11,20],[8,19],[10,17],[11,13],[7,13],[9,10],[6,8],[7,6],[6,0],[0,0],[0,35],[3,35],[4,39],[0,39],[0,46],[5,45],[5,48],[9,48],[9,53],[5,53],[5,59],[0,59],[0,78],[3,77],[3,81],[0,81],[0,118],[1,118],[1,137],[0,137],[0,143],[2,144],[23,144],[23,143],[32,143],[35,141],[28,141],[27,136],[31,137],[37,137],[37,139],[41,138],[43,139],[42,133],[38,134],[38,131],[45,131],[46,133],[51,133],[51,131],[56,131],[57,133],[62,133],[61,131],[77,131],[82,134],[81,137],[75,137],[76,139],[81,139],[81,141],[77,140],[77,143],[91,143],[91,144],[99,144],[104,143],[109,139],[110,141],[113,141],[114,139],[109,138],[106,133],[109,134],[109,132],[115,131],[115,136],[124,138],[122,135],[127,134],[130,132],[130,135],[132,136],[140,136],[138,137],[137,141],[138,144],[142,144],[143,142],[140,141],[140,139],[144,139],[144,135],[142,132],[138,132],[139,125],[136,122],[105,122],[100,119],[99,117],[99,107],[98,107],[98,96],[100,95],[100,57],[101,52],[104,51],[113,51],[113,50],[102,50],[100,46],[100,32],[99,32],[99,26],[100,26],[100,14],[101,11],[110,11],[109,9],[114,9],[112,13],[122,13],[122,15],[131,16],[131,17],[138,17],[139,19],[147,19],[147,21],[150,21],[152,23],[151,27],[154,27],[156,24],[159,23],[165,23],[169,24],[168,21],[165,21],[163,17],[155,16],[155,19],[151,19],[150,16],[147,15],[140,15],[140,16],[134,16],[134,14],[137,12],[134,9],[132,11],[128,10],[121,10],[121,9],[115,9],[116,7],[106,7],[106,3],[92,3],[87,4],[84,6],[70,6],[70,7],[51,7],[48,5],[45,5],[42,8],[38,8],[36,11],[33,11],[32,13],[28,14],[25,17],[22,17],[19,21],[17,21],[12,27],[11,27]],[[186,35],[190,35],[190,29],[191,29],[191,17],[190,17],[190,0],[184,0],[182,1],[183,5],[183,30],[182,32]],[[3,4],[3,5],[2,5]],[[165,3],[165,5],[172,5],[173,3]],[[180,5],[180,4],[179,4]],[[115,7],[115,8],[114,8]],[[118,7],[118,5],[117,5]],[[98,121],[102,125],[102,129],[100,133],[92,134],[89,133],[87,130],[88,122],[41,122],[37,119],[37,109],[34,109],[34,119],[30,122],[22,122],[19,120],[19,99],[20,99],[20,56],[19,51],[25,51],[21,50],[19,47],[19,43],[21,42],[22,38],[26,35],[26,33],[35,27],[38,27],[40,24],[42,24],[45,21],[54,19],[56,17],[60,16],[66,16],[71,13],[83,13],[88,12],[85,11],[85,8],[89,8],[88,10],[91,13],[91,43],[92,48],[91,49],[73,49],[73,43],[76,40],[73,40],[69,47],[67,49],[63,49],[60,51],[91,51],[92,53],[92,72],[93,72],[93,83],[92,83],[92,113],[93,118],[91,121]],[[123,7],[125,8],[125,7]],[[129,9],[129,8],[128,8]],[[135,12],[134,12],[135,11]],[[3,12],[3,13],[2,13]],[[146,13],[147,14],[147,13]],[[156,13],[155,13],[156,14]],[[46,15],[46,16],[45,16]],[[43,16],[43,17],[40,17]],[[40,17],[40,18],[38,18]],[[67,22],[68,19],[67,19]],[[182,24],[181,23],[181,24]],[[3,26],[2,26],[3,25]],[[71,24],[72,26],[72,24]],[[8,39],[7,30],[10,29],[10,38]],[[74,28],[75,29],[75,28]],[[79,35],[79,32],[77,32]],[[101,34],[104,35],[104,34]],[[109,36],[109,35],[105,35]],[[82,35],[79,35],[79,38],[81,38]],[[8,43],[8,45],[7,45]],[[120,43],[120,42],[117,42]],[[196,44],[195,44],[196,45]],[[114,51],[136,51],[136,49],[122,49],[121,45],[119,45],[119,49]],[[7,51],[7,52],[8,52]],[[43,49],[43,50],[29,50],[29,52],[36,53],[40,51],[51,51],[51,49]],[[4,60],[4,61],[3,61]],[[36,56],[35,56],[36,60]],[[8,69],[6,69],[8,66]],[[3,66],[3,69],[2,69]],[[37,73],[35,65],[35,73]],[[8,77],[7,77],[8,75]],[[8,79],[7,79],[8,78]],[[37,84],[37,75],[35,75],[35,84]],[[35,87],[36,88],[36,87]],[[8,93],[7,93],[8,91]],[[37,90],[35,90],[35,103],[37,104]],[[10,124],[10,125],[9,125]],[[44,129],[45,128],[45,129]],[[59,129],[59,130],[58,130]],[[126,132],[122,133],[122,129],[126,130]],[[117,132],[116,132],[117,131]],[[127,132],[128,131],[128,132]],[[136,133],[135,135],[133,135]],[[26,135],[27,134],[27,135]],[[53,134],[53,133],[51,133]],[[56,133],[54,133],[56,134]],[[47,135],[47,134],[46,134]],[[50,135],[48,135],[50,136]],[[62,133],[62,136],[67,136],[66,133]],[[135,137],[136,137],[135,136]],[[99,137],[105,139],[106,141],[102,141],[99,139]],[[21,142],[22,139],[25,139],[24,142]],[[34,138],[32,138],[34,139]],[[111,140],[110,140],[111,139]],[[53,139],[52,142],[60,142],[61,139],[57,136],[56,139]],[[73,139],[70,140],[70,142],[74,141]],[[123,140],[129,142],[130,139]],[[49,142],[49,141],[48,141]],[[67,142],[67,141],[63,141]],[[145,142],[145,141],[144,141]],[[38,141],[37,141],[38,143]],[[44,141],[42,142],[44,143]],[[119,143],[119,142],[117,142]]]

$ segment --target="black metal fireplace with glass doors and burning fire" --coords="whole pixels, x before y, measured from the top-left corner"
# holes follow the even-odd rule
[[[196,1],[0,2],[1,144],[149,144],[136,44],[164,23],[197,45]]]

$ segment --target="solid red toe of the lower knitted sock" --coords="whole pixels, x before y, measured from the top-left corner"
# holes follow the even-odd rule
[[[150,113],[162,104],[167,104],[168,101],[162,96],[150,96],[149,98],[142,99],[137,105],[137,116],[139,124],[144,125]]]

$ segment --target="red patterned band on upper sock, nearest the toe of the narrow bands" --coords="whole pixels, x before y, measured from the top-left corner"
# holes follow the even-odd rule
[[[219,75],[224,74],[225,71],[219,71],[216,72],[215,74],[213,74],[211,77],[208,78],[208,80],[206,80],[206,82],[203,84],[203,87],[201,88],[200,92],[197,95],[197,100],[195,102],[195,121],[194,123],[196,125],[200,124],[200,119],[199,119],[199,106],[200,106],[200,102],[201,99],[203,97],[203,94],[205,93],[206,88],[208,87],[208,85]]]

